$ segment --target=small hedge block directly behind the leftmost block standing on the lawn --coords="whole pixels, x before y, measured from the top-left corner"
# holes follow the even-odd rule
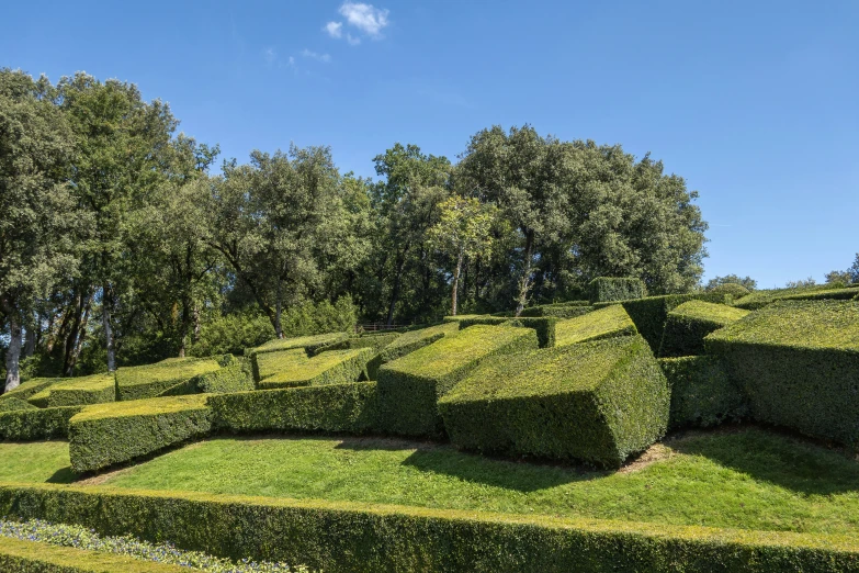
[[[231,355],[210,358],[169,358],[154,364],[120,368],[116,370],[116,398],[145,400],[156,397],[166,390],[194,377],[214,372]]]

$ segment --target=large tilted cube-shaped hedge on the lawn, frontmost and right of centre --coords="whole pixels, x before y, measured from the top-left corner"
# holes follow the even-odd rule
[[[647,344],[623,336],[493,358],[439,408],[461,448],[617,468],[665,434],[669,401]]]

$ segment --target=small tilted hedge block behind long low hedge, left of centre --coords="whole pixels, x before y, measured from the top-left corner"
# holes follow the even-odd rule
[[[259,390],[343,384],[366,378],[372,348],[329,350],[307,358],[302,351],[265,352],[253,357],[261,374]],[[273,372],[263,375],[267,372]]]

